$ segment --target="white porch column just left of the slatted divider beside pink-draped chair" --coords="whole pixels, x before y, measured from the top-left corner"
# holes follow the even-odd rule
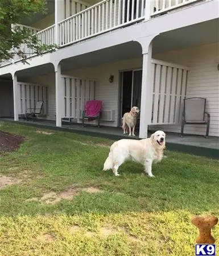
[[[61,118],[64,117],[64,85],[61,79],[61,65],[55,69],[56,80],[56,126],[61,127]]]

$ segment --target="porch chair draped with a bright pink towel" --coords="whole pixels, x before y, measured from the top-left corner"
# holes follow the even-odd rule
[[[88,118],[88,121],[98,120],[98,127],[100,127],[100,114],[102,110],[102,101],[89,100],[85,104],[85,109],[82,112],[82,125],[84,125],[84,119]]]

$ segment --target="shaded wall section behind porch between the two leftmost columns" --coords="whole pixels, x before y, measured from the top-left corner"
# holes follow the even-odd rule
[[[56,87],[55,87],[55,72],[46,76],[31,77],[22,79],[22,82],[32,82],[39,85],[48,86],[48,115],[46,119],[55,120],[56,114]]]

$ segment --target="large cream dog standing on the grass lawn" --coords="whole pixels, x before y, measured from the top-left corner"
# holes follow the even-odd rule
[[[156,131],[150,138],[121,139],[114,142],[110,147],[109,156],[104,163],[104,171],[113,170],[115,176],[119,176],[118,168],[125,160],[133,160],[144,166],[144,172],[149,177],[154,177],[151,172],[152,162],[160,162],[163,158],[163,150],[166,143],[166,134]]]

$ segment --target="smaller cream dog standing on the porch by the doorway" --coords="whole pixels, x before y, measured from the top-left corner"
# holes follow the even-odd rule
[[[127,112],[123,115],[122,118],[122,129],[123,129],[123,134],[126,134],[127,127],[129,128],[129,136],[133,135],[135,136],[135,126],[137,123],[137,118],[140,110],[137,106],[134,106],[131,108],[130,112]],[[133,129],[131,131],[131,129]]]

